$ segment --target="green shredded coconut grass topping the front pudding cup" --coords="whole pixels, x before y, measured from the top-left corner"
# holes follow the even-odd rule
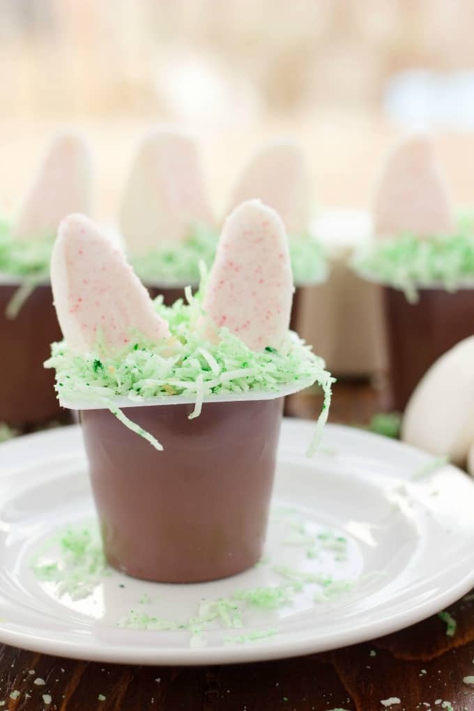
[[[151,397],[187,395],[195,407],[190,419],[200,415],[203,402],[210,395],[246,395],[252,391],[278,392],[286,385],[301,388],[318,383],[324,392],[323,410],[315,436],[308,449],[313,454],[328,417],[331,385],[335,379],[325,370],[324,360],[311,351],[296,333],[289,331],[279,350],[267,347],[262,352],[250,350],[227,328],[221,328],[216,343],[207,341],[197,328],[203,317],[201,290],[191,296],[164,306],[158,296],[154,304],[157,313],[168,322],[170,341],[160,346],[135,341],[119,357],[104,357],[97,351],[75,355],[65,341],[53,343],[46,368],[55,368],[58,397],[69,405],[85,403],[107,407],[126,427],[146,437],[156,449],[161,445],[131,422],[114,398],[126,397],[130,404]]]

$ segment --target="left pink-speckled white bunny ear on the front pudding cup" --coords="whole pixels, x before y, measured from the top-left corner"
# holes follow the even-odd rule
[[[51,285],[63,336],[75,353],[98,345],[116,353],[135,339],[156,344],[169,336],[122,250],[84,215],[69,215],[60,224]]]

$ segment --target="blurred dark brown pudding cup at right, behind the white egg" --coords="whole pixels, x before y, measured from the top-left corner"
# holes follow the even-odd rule
[[[435,360],[473,335],[474,289],[419,289],[416,303],[399,289],[383,292],[392,407],[403,412]]]

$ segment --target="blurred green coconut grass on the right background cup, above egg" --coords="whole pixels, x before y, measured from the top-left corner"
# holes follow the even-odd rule
[[[357,252],[353,267],[362,277],[400,289],[411,302],[424,287],[455,292],[466,283],[474,284],[473,216],[459,218],[452,235],[404,233],[372,242]]]

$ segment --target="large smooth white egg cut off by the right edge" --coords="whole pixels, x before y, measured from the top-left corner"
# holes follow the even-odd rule
[[[444,353],[421,379],[405,410],[402,439],[463,464],[474,442],[474,336]]]

